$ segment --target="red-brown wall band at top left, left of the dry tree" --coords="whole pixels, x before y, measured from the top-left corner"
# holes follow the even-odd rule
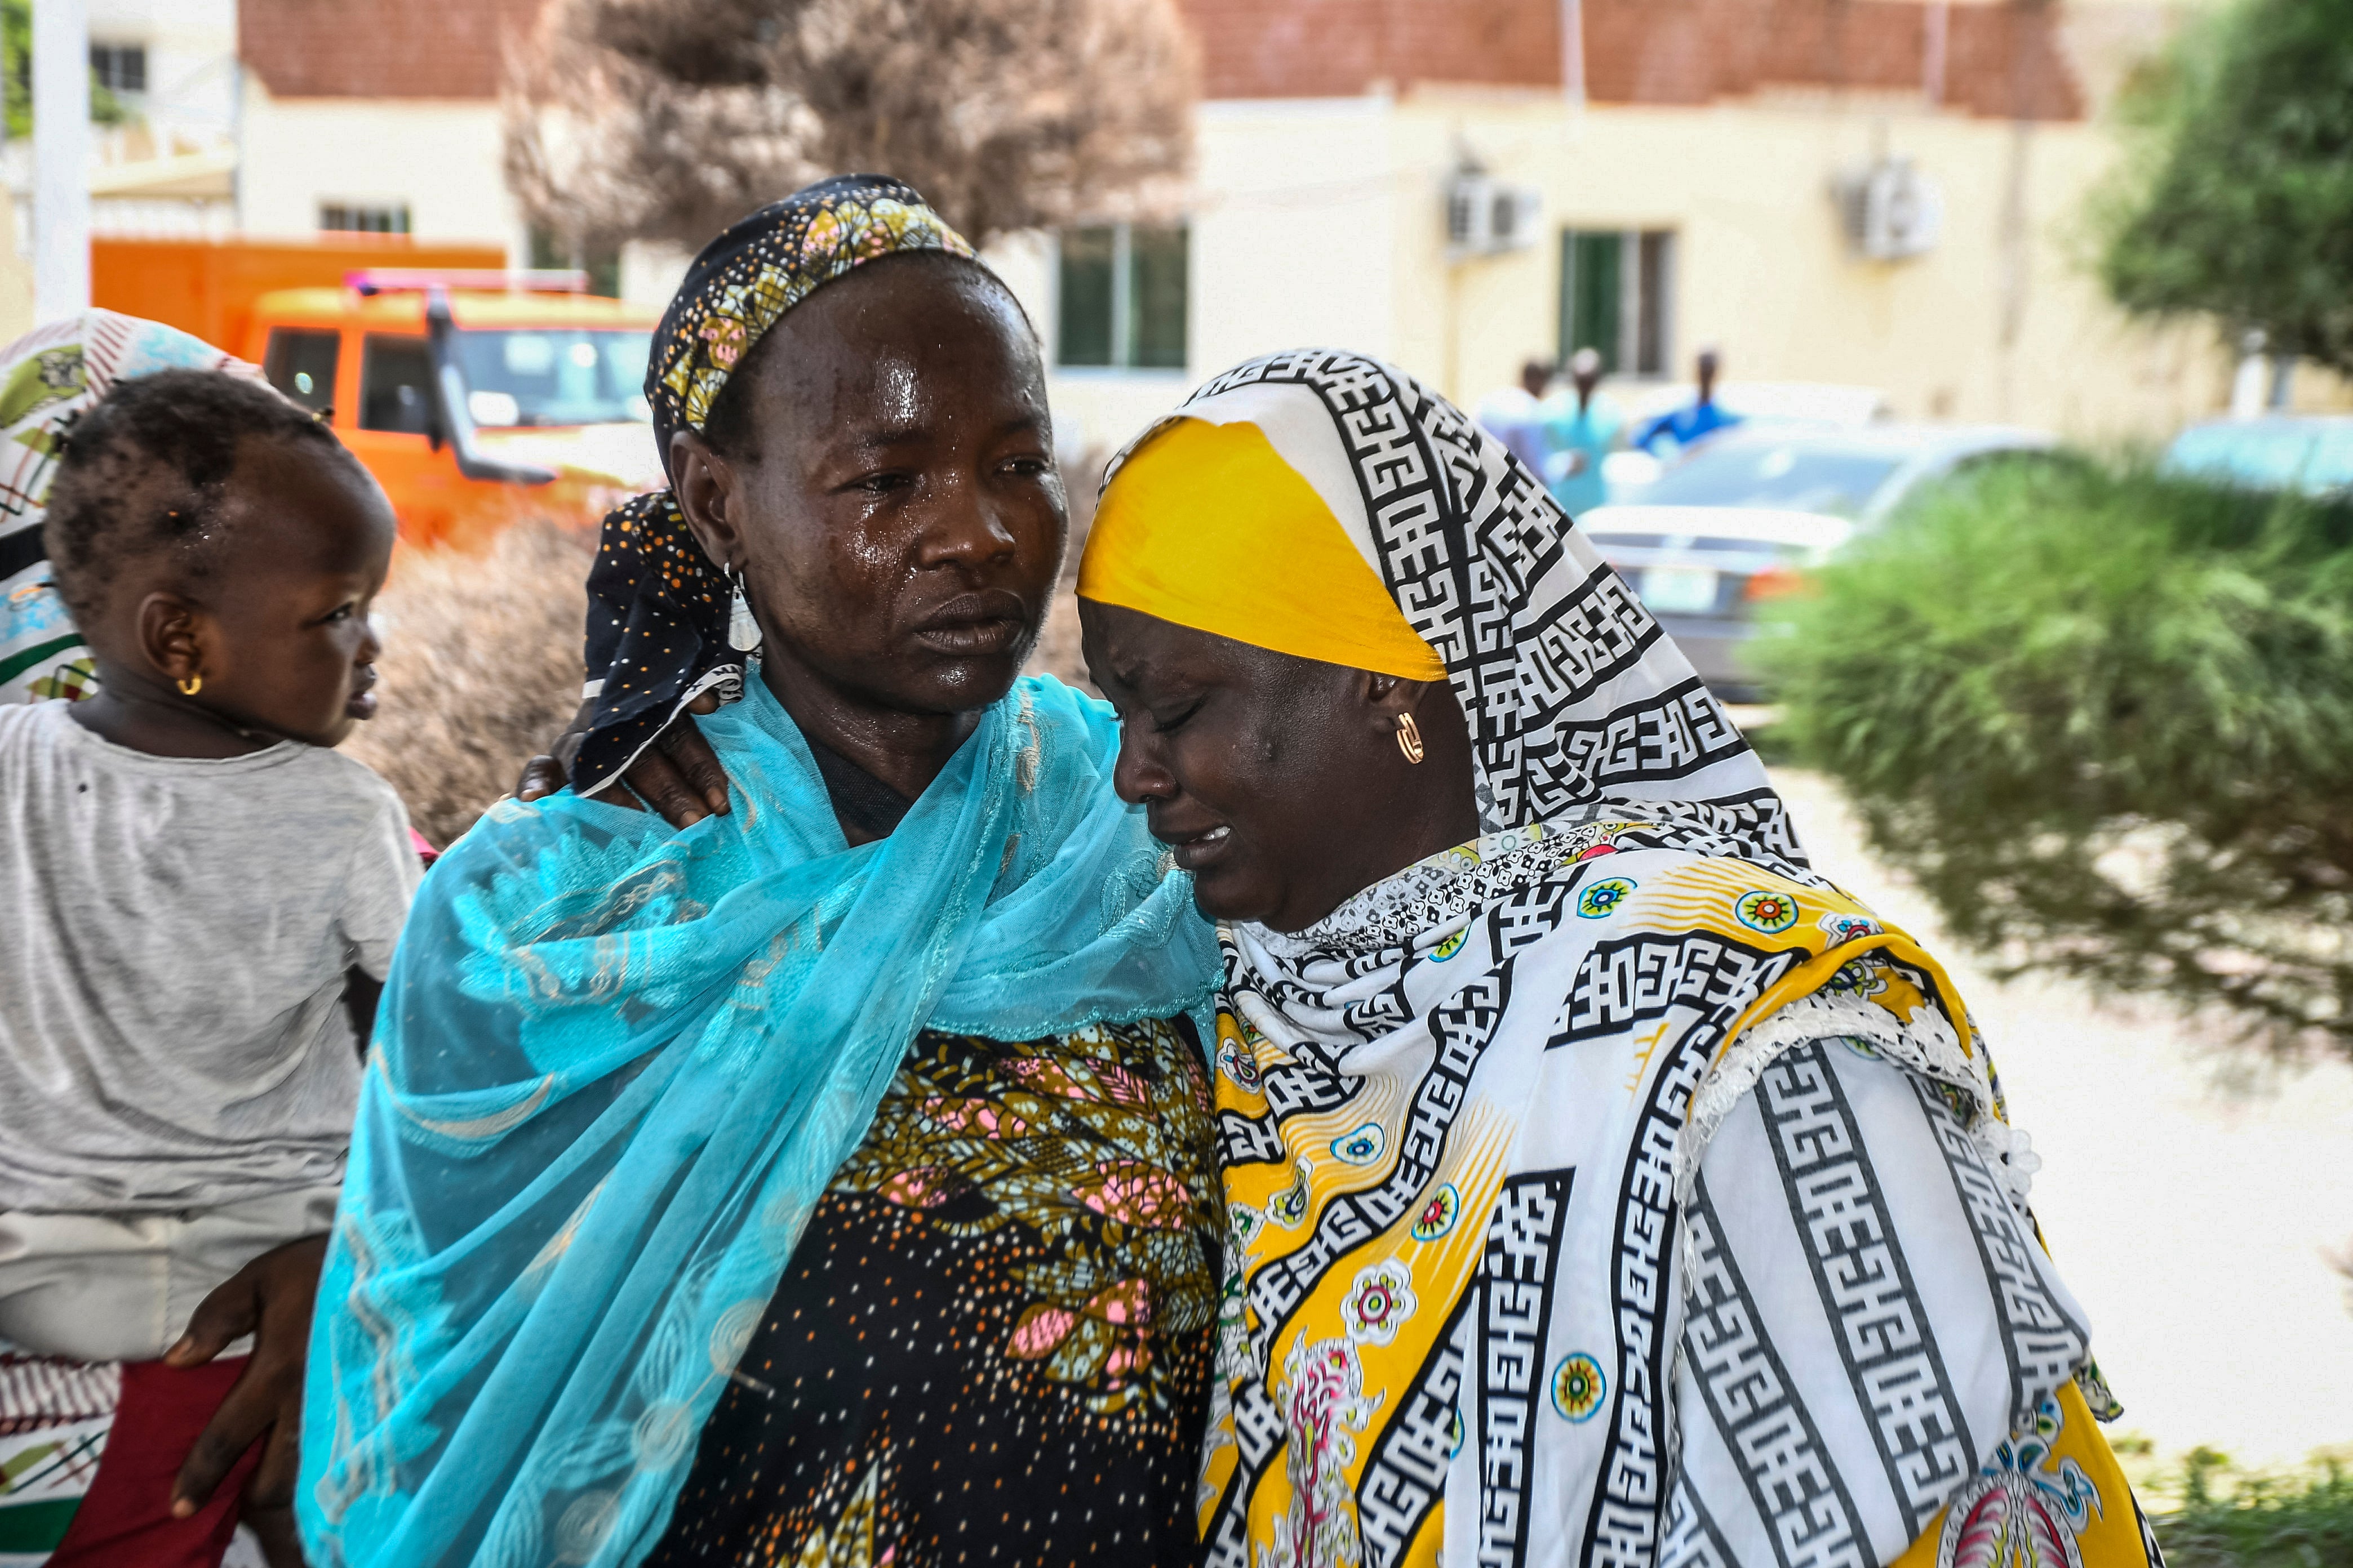
[[[541,0],[238,0],[238,59],[280,99],[494,99]]]

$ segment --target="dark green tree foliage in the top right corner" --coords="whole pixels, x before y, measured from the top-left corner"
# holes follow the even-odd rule
[[[2353,0],[2238,0],[2125,94],[2108,294],[2353,374]]]

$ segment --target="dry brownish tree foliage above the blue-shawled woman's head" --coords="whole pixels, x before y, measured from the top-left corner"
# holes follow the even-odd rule
[[[845,172],[974,244],[1141,216],[1195,96],[1172,0],[553,0],[511,75],[508,181],[574,244],[694,247]]]

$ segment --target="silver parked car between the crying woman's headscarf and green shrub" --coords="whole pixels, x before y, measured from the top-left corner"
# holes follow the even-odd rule
[[[1718,696],[1760,701],[1741,651],[1762,599],[1798,592],[1809,567],[1922,487],[2049,447],[2052,437],[2007,425],[1737,425],[1624,501],[1612,491],[1577,527]]]

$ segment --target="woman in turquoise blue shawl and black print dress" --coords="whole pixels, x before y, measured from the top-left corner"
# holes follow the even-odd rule
[[[696,259],[576,790],[426,879],[320,1281],[315,1563],[1193,1556],[1217,950],[1108,715],[1014,682],[1038,343],[896,181]],[[612,780],[708,691],[732,797]],[[602,792],[600,792],[602,790]]]

